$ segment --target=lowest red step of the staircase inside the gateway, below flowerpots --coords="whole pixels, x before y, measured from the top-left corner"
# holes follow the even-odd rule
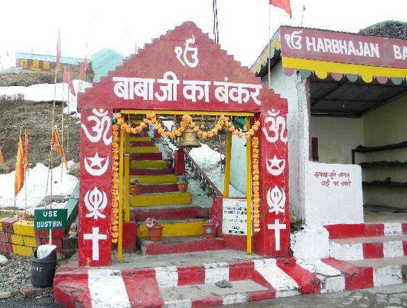
[[[163,237],[161,241],[141,239],[141,253],[143,255],[161,255],[163,253],[191,253],[193,251],[207,251],[225,249],[226,242],[222,238],[205,239],[198,237]]]

